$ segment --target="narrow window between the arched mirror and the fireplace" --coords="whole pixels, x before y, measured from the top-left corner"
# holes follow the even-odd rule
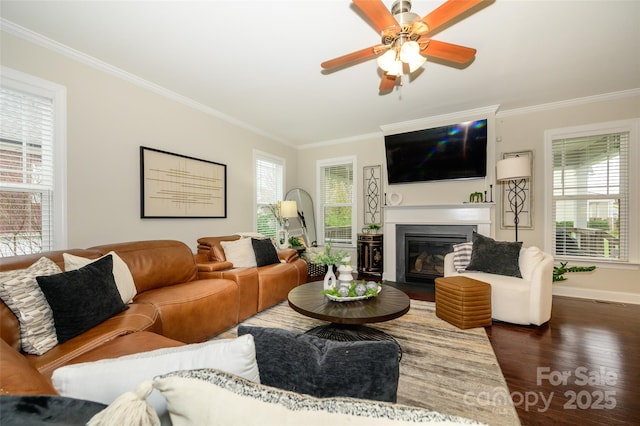
[[[355,157],[318,162],[321,235],[324,244],[355,245]]]

